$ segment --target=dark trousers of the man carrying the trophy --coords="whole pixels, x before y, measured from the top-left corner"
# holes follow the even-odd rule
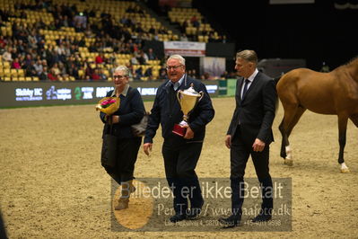
[[[195,172],[203,143],[182,143],[176,137],[165,139],[162,146],[165,175],[173,192],[173,208],[176,213],[185,213],[188,199],[191,208],[200,208],[204,202]]]

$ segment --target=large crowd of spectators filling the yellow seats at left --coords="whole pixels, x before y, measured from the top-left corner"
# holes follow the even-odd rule
[[[41,19],[36,22],[13,21],[26,19],[27,11],[44,10],[53,15],[53,21],[48,24]],[[144,14],[140,7],[128,7],[127,13]],[[59,5],[51,1],[18,4],[14,12],[0,9],[0,26],[12,22],[12,34],[0,35],[2,61],[8,62],[13,69],[22,69],[24,76],[57,81],[70,76],[74,79],[105,80],[116,66],[118,54],[132,56],[126,62],[131,69],[134,65],[146,65],[148,60],[162,59],[162,56],[155,55],[153,49],[144,49],[143,42],[158,40],[156,36],[159,32],[167,32],[164,28],[151,28],[145,32],[141,22],[126,16],[118,23],[113,23],[114,19],[108,13],[101,13],[99,22],[89,21],[93,16],[94,10],[79,12],[74,4]],[[83,33],[83,37],[65,35],[57,38],[56,44],[48,44],[43,31],[61,31],[63,28],[73,28],[75,32]],[[96,52],[97,56],[82,58],[81,48]],[[143,75],[153,76],[151,69],[143,75],[137,75],[135,70],[132,73],[134,79]]]

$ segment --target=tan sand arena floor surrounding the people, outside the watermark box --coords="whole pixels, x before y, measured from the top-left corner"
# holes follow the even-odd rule
[[[233,98],[215,98],[214,120],[207,126],[199,178],[229,177],[229,150],[223,144]],[[145,102],[150,110],[153,102]],[[10,238],[116,237],[282,237],[353,238],[358,235],[358,129],[349,121],[345,162],[337,164],[336,116],[307,111],[290,137],[293,167],[279,157],[280,105],[271,145],[272,177],[293,183],[292,231],[245,232],[240,227],[210,232],[118,232],[111,230],[110,179],[100,166],[102,123],[93,105],[0,110],[0,202]],[[160,131],[151,157],[141,148],[135,176],[163,178]],[[247,177],[255,178],[249,160]],[[225,203],[228,203],[225,200]],[[162,231],[162,232],[161,232]]]

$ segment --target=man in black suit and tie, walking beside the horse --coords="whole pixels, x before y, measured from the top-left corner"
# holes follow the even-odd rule
[[[235,69],[242,76],[236,84],[236,108],[225,138],[231,157],[231,216],[220,218],[224,227],[240,226],[244,201],[245,167],[251,155],[262,190],[261,209],[253,222],[272,217],[272,180],[268,168],[269,144],[274,141],[272,123],[275,119],[275,82],[258,71],[254,50],[236,55]]]

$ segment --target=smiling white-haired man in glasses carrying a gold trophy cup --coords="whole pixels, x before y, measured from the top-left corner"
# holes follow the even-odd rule
[[[205,125],[214,118],[205,84],[190,78],[185,70],[185,58],[179,55],[168,58],[170,80],[158,88],[144,137],[144,153],[149,155],[161,124],[165,175],[174,195],[175,215],[170,217],[173,223],[196,219],[203,207],[195,168],[203,146]]]

